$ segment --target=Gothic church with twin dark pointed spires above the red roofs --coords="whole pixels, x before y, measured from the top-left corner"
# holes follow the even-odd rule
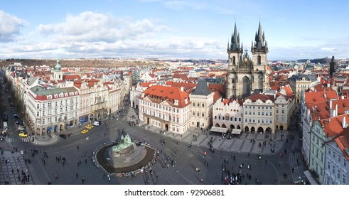
[[[269,89],[268,47],[260,22],[255,41],[252,41],[252,59],[249,58],[247,51],[243,53],[235,24],[234,33],[227,46],[229,70],[226,97],[228,99],[242,99],[251,95],[252,92],[264,92]]]

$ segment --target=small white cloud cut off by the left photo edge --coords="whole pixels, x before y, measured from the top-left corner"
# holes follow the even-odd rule
[[[16,41],[26,21],[0,10],[0,43]]]

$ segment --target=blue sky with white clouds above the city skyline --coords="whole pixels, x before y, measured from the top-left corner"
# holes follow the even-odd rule
[[[349,1],[0,0],[0,59],[227,59],[236,23],[268,60],[349,58]]]

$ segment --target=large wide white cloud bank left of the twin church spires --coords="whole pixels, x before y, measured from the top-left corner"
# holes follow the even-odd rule
[[[37,30],[45,36],[53,35],[59,42],[85,41],[113,43],[119,39],[139,39],[168,27],[156,24],[156,20],[117,18],[110,14],[85,11],[68,14],[65,21],[56,24],[40,24]]]

